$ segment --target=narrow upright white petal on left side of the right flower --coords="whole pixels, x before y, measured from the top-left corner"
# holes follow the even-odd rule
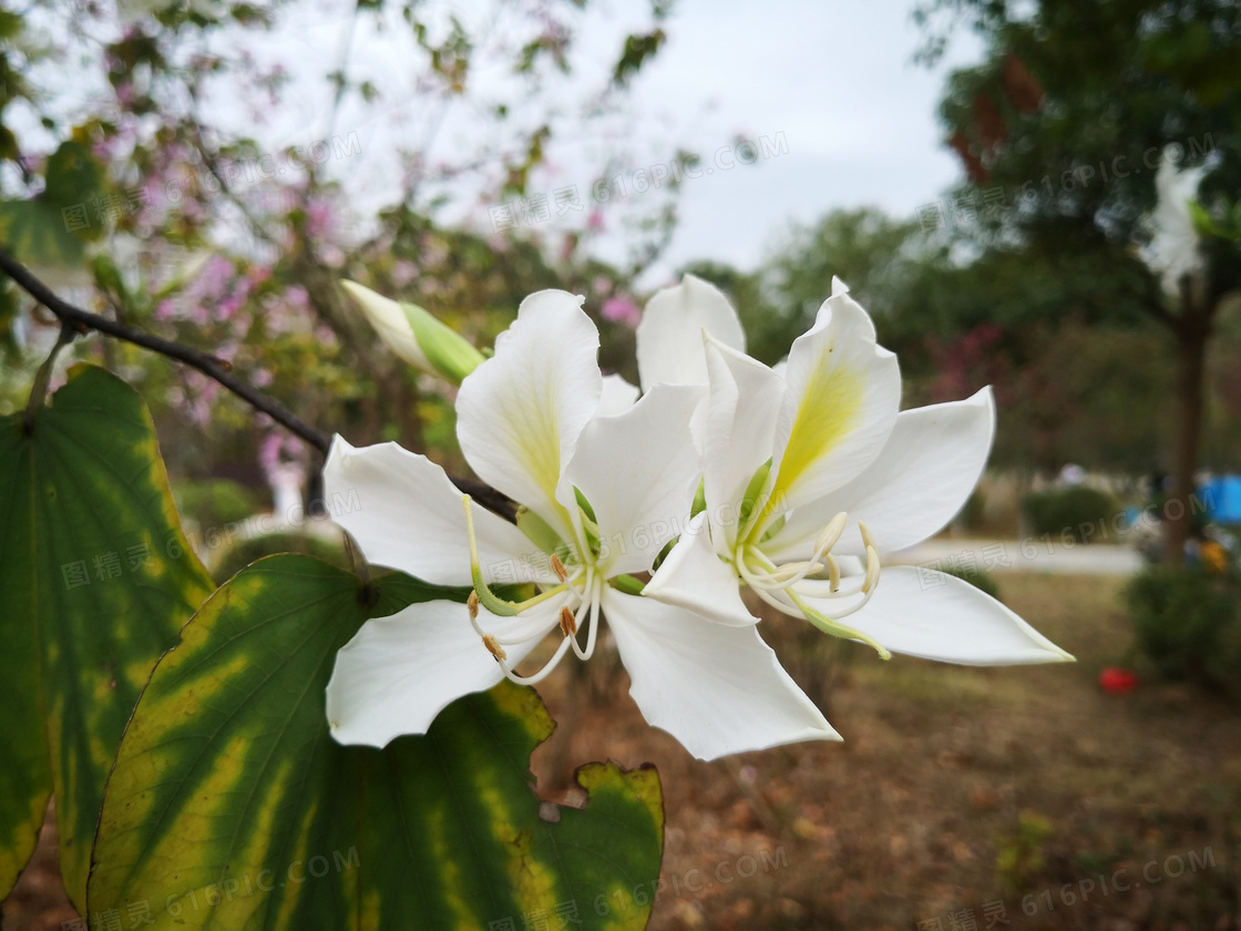
[[[755,472],[772,454],[784,380],[762,362],[709,338],[710,394],[701,432],[707,519],[735,541],[737,511]],[[721,541],[716,540],[717,549]]]

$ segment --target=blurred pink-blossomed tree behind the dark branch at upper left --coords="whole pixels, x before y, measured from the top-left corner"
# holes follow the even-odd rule
[[[483,4],[468,21],[452,4],[346,6],[333,24],[340,52],[328,58],[297,55],[298,29],[323,27],[324,16],[308,17],[302,2],[0,11],[0,242],[79,303],[215,354],[311,422],[356,425],[367,442],[452,447],[443,390],[382,348],[338,281],[422,303],[480,344],[531,290],[586,286],[592,303],[623,292],[634,269],[586,253],[598,226],[589,178],[576,179],[576,228],[555,238],[537,226],[498,235],[488,207],[534,196],[561,134],[606,137],[623,122],[629,83],[663,43],[666,6],[649,7],[649,29],[614,37],[616,60],[593,87],[575,71],[575,37],[594,15],[585,4]],[[400,52],[387,81],[360,53],[376,36]],[[393,124],[395,108],[413,114],[398,150],[364,146],[355,129]],[[308,124],[273,128],[287,110]],[[465,113],[469,146],[446,149],[444,127]],[[628,154],[614,146],[594,168]],[[364,211],[344,182],[381,170],[397,182]],[[666,202],[632,209],[653,215],[633,236],[634,252],[650,254],[666,238]],[[0,408],[25,403],[57,331],[5,282],[0,335],[15,372]],[[261,487],[273,454],[318,470],[313,452],[199,372],[107,341],[79,340],[62,364],[73,356],[141,387],[177,474]],[[207,454],[179,442],[204,430]]]

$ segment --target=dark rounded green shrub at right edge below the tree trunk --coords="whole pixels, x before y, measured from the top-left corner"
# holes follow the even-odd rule
[[[1198,566],[1149,566],[1124,590],[1137,648],[1165,679],[1236,689],[1241,581]]]

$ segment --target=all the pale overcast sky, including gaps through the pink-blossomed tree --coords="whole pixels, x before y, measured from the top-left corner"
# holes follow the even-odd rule
[[[472,31],[496,29],[479,21],[484,14],[473,12],[472,2],[428,0],[428,7],[443,6]],[[913,2],[678,0],[666,22],[665,47],[633,84],[628,122],[619,133],[613,123],[594,139],[555,137],[547,166],[532,189],[550,192],[576,185],[589,209],[589,186],[611,148],[623,143],[628,149],[627,176],[635,168],[666,161],[678,149],[702,154],[702,174],[684,185],[680,225],[665,257],[644,276],[647,287],[664,283],[691,259],[752,269],[791,222],[809,222],[831,209],[876,205],[912,217],[959,175],[934,114],[948,67],[979,55],[977,41],[961,35],[936,70],[913,65],[921,38],[910,20]],[[402,32],[398,24],[387,31],[351,30],[352,2],[344,0],[303,0],[295,9],[305,15],[287,20],[269,51],[273,60],[292,58],[295,67],[304,66],[308,79],[294,82],[279,112],[264,114],[271,120],[259,133],[266,143],[305,144],[329,133],[359,133],[362,156],[334,161],[330,170],[364,215],[390,202],[400,170],[390,155],[422,138],[428,125],[438,127],[432,151],[439,161],[455,164],[470,150],[472,133],[477,135],[489,120],[472,112],[470,101],[458,101],[437,122],[441,114],[427,98],[412,84],[405,87],[412,78],[408,52],[396,41]],[[619,37],[649,27],[649,6],[645,0],[596,0],[581,22],[571,89],[606,83]],[[350,77],[375,81],[386,103],[379,109],[346,104],[330,120],[330,94],[324,93],[321,76],[340,60],[346,41]],[[482,91],[474,97],[483,99],[489,88],[511,83],[511,77],[498,66],[491,74],[472,73],[472,82]],[[221,106],[237,110],[235,101]],[[712,153],[738,135],[766,137],[772,145],[787,144],[787,150],[750,166],[712,165]],[[650,153],[645,161],[644,151]],[[625,241],[617,235],[614,206],[603,209],[609,232],[592,248],[619,259]],[[565,220],[580,226],[582,216]],[[463,204],[449,218],[486,232],[495,226],[486,202]],[[539,232],[553,240],[555,216]]]

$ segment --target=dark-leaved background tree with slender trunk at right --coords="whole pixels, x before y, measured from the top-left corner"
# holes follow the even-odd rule
[[[937,16],[937,14],[939,16]],[[942,51],[943,15],[982,35],[987,53],[956,71],[942,103],[968,181],[958,202],[977,210],[990,251],[1039,256],[1052,267],[1112,267],[1091,300],[1113,317],[1138,308],[1169,334],[1176,359],[1168,559],[1179,561],[1201,446],[1207,346],[1241,283],[1229,216],[1241,191],[1241,7],[1222,0],[942,0],[920,14],[928,60]],[[1155,169],[1205,165],[1200,190],[1207,272],[1174,294],[1138,257],[1149,238]],[[1020,281],[1019,278],[1016,281]],[[1059,315],[1073,313],[1065,303]]]

